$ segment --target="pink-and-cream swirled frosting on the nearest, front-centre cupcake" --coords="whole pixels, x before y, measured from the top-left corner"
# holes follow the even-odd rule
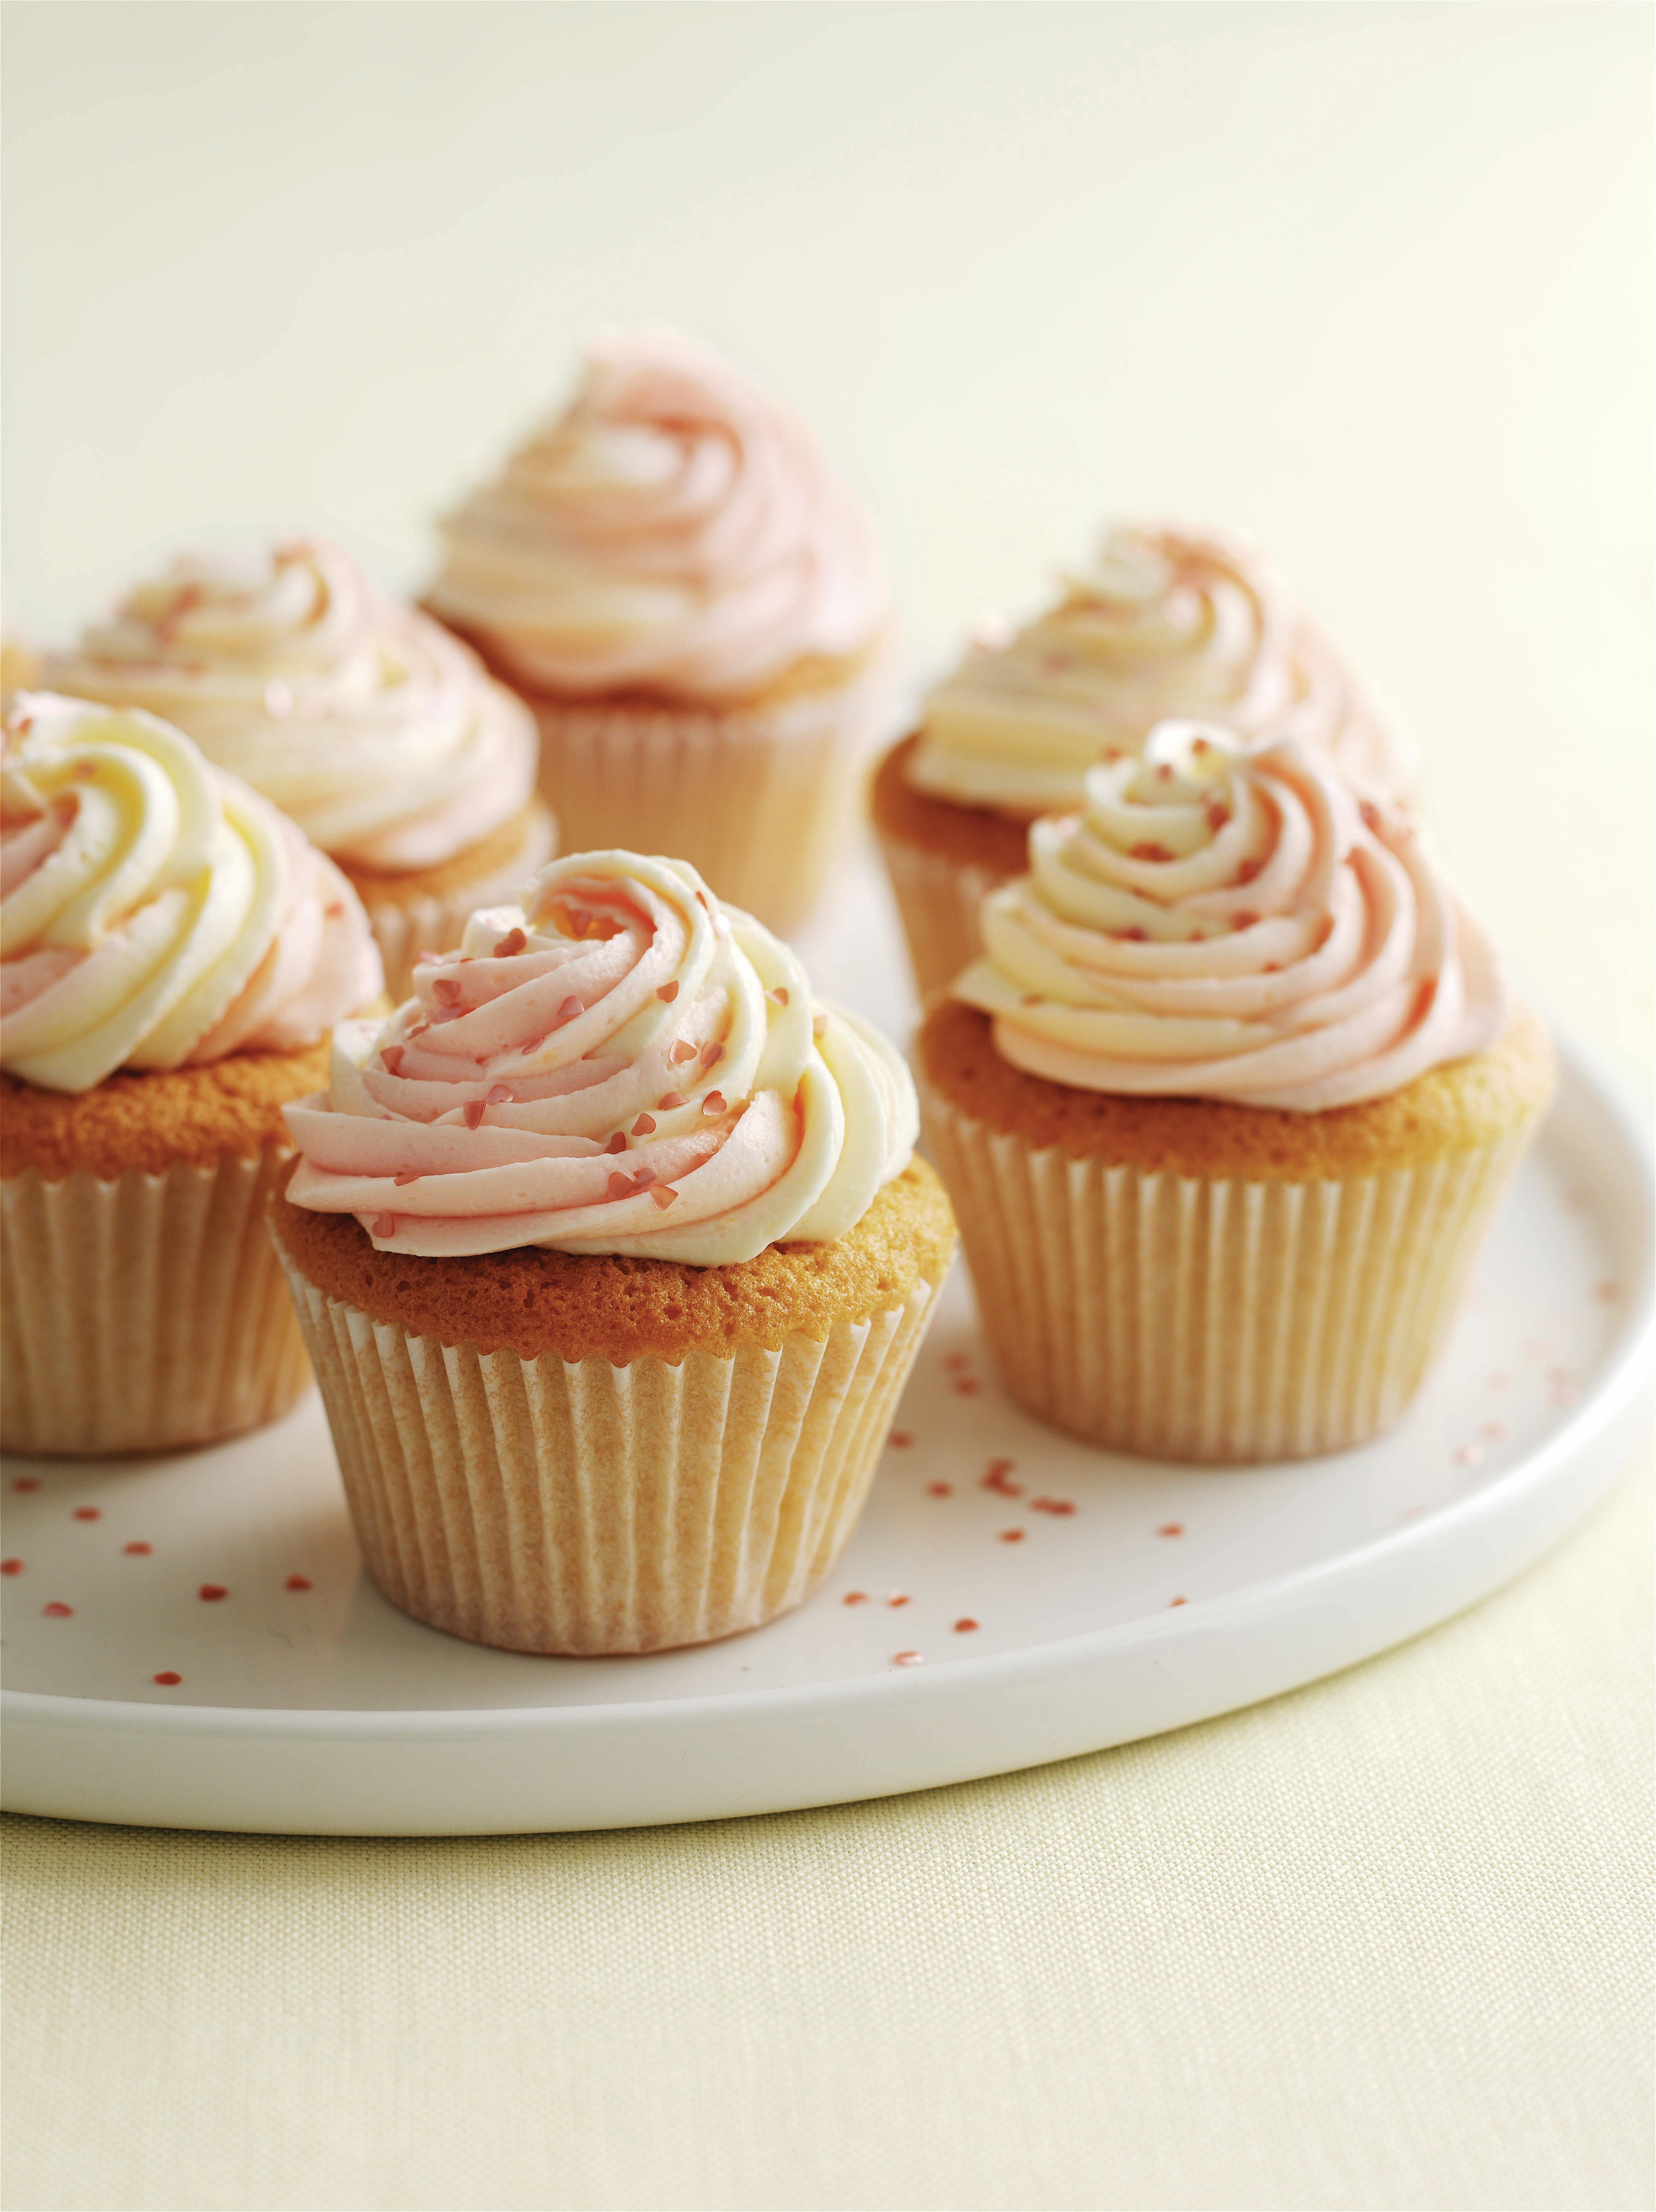
[[[719,1267],[840,1237],[913,1152],[895,1051],[683,860],[553,860],[413,984],[287,1108],[287,1197],[382,1252]]]

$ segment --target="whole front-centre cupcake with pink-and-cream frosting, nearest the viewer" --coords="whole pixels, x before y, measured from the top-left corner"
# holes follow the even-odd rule
[[[913,1084],[679,860],[555,860],[287,1110],[274,1230],[352,1517],[509,1650],[798,1606],[862,1506],[955,1225]]]

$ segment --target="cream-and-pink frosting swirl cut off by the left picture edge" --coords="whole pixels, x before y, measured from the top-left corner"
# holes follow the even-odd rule
[[[332,860],[153,714],[22,692],[0,754],[0,1066],[44,1091],[316,1044],[380,991]]]

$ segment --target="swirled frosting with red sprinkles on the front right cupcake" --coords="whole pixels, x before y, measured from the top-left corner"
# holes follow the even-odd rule
[[[1497,1042],[1508,991],[1406,816],[1302,739],[1161,723],[1030,830],[953,995],[1079,1091],[1318,1113]]]

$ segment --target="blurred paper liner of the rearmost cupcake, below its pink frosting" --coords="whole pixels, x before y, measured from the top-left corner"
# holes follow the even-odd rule
[[[787,933],[845,841],[882,664],[836,690],[730,712],[531,699],[564,852],[670,852]]]

